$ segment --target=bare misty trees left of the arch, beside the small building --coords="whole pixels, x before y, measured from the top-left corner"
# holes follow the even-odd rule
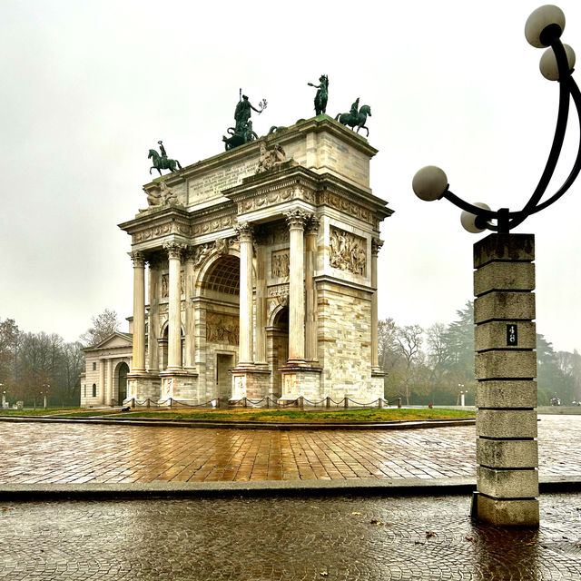
[[[25,332],[14,319],[0,319],[0,395],[25,406],[78,406],[84,347],[98,344],[119,328],[117,314],[104,310],[79,340],[56,333]],[[5,392],[3,394],[3,392]]]

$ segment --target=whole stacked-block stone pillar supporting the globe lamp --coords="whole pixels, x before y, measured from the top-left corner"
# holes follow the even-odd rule
[[[474,245],[477,492],[472,514],[537,527],[535,238],[491,234]]]

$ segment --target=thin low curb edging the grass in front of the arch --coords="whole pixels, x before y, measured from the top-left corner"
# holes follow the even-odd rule
[[[145,418],[46,418],[38,416],[0,416],[0,421],[7,422],[40,422],[40,423],[71,423],[71,424],[112,424],[116,426],[159,426],[162,428],[233,428],[233,429],[418,429],[418,428],[448,428],[450,426],[474,426],[476,419],[425,419],[425,420],[392,420],[388,422],[344,422],[311,424],[306,422],[260,422],[260,421],[198,421],[165,420]]]

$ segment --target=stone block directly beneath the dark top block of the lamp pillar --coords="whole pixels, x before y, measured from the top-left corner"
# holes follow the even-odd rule
[[[489,291],[534,291],[535,265],[532,262],[488,262],[474,271],[474,294]]]

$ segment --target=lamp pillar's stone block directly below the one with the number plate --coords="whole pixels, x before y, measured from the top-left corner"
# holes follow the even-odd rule
[[[494,350],[477,353],[476,379],[532,379],[537,377],[535,351]]]

